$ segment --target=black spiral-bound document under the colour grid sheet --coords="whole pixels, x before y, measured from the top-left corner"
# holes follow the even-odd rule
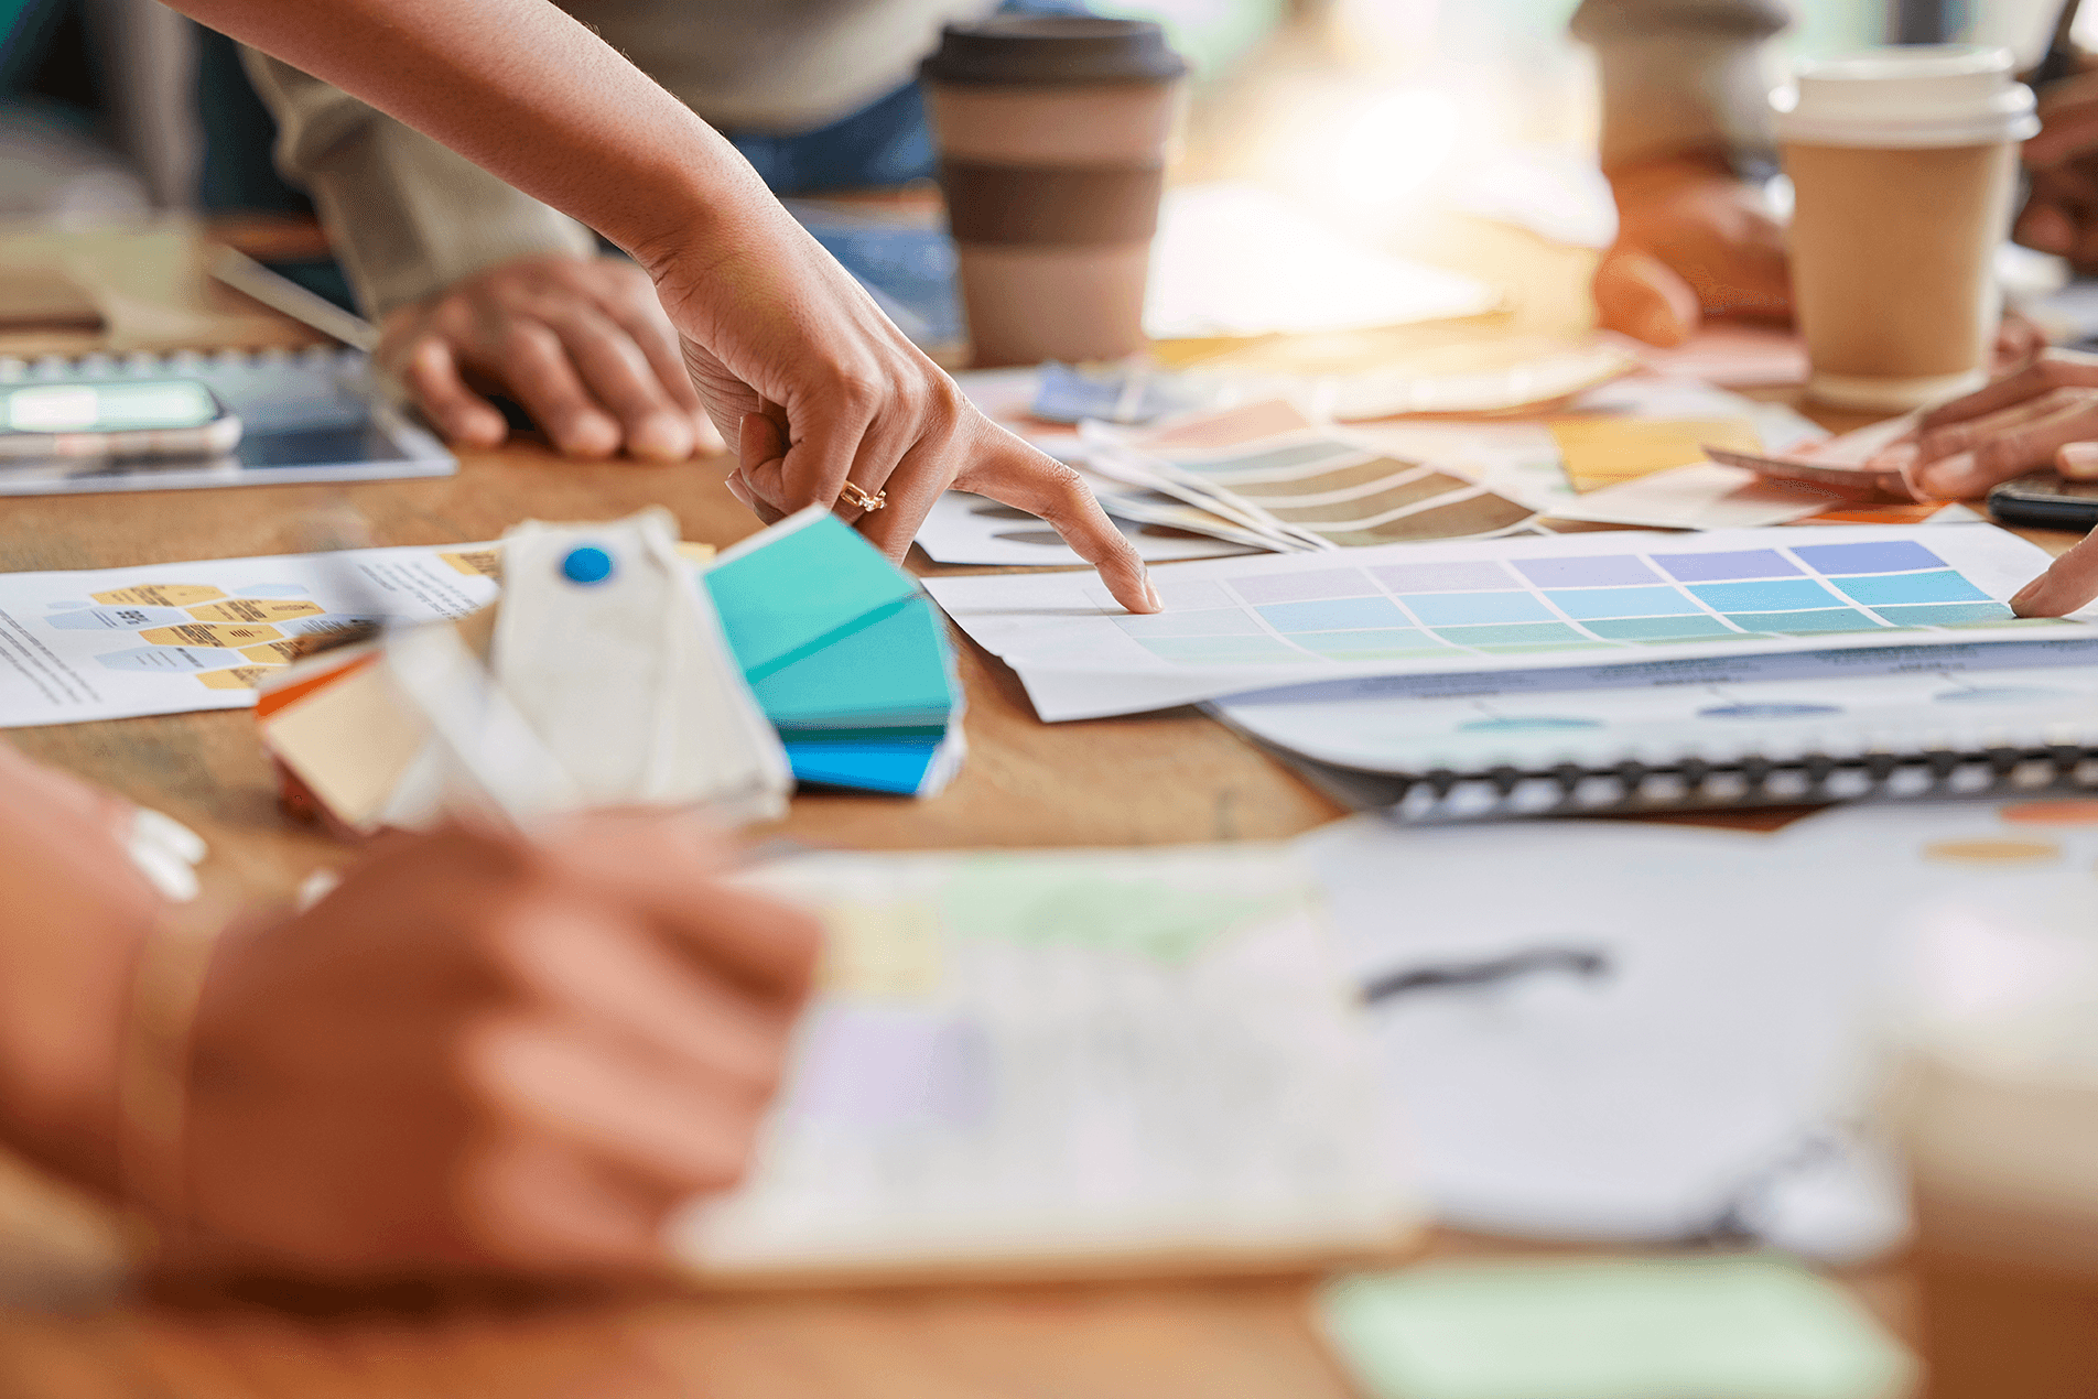
[[[2098,789],[2098,642],[1385,677],[1219,719],[1404,822]]]

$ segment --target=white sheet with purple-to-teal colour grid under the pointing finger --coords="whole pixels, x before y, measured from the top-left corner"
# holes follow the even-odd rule
[[[2092,636],[2010,619],[2046,564],[1993,526],[1827,526],[1190,562],[1158,573],[1152,617],[1076,573],[927,589],[1053,724],[1351,675]],[[1918,610],[1886,610],[1903,606]]]

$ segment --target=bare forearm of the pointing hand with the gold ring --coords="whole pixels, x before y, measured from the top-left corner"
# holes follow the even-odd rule
[[[648,260],[785,218],[684,103],[543,0],[174,0]]]

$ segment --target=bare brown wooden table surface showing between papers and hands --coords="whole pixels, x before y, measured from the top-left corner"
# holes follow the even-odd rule
[[[1553,268],[1548,283],[1565,281]],[[720,461],[583,466],[520,445],[468,455],[445,480],[6,499],[0,571],[459,543],[527,516],[611,518],[650,503],[673,510],[686,539],[722,545],[755,529],[722,474]],[[961,673],[969,761],[944,795],[801,797],[753,835],[850,847],[1162,845],[1284,839],[1341,816],[1194,711],[1045,726],[1015,675],[971,644]],[[212,845],[206,885],[224,898],[285,900],[315,868],[352,858],[279,812],[243,711],[8,738],[195,826]],[[1511,1252],[1536,1250],[1448,1231],[1425,1246],[1425,1256]],[[1311,1330],[1311,1277],[285,1309],[147,1300],[124,1292],[109,1263],[109,1221],[94,1204],[0,1160],[0,1399],[1349,1393]],[[1911,1332],[1899,1265],[1846,1282]]]

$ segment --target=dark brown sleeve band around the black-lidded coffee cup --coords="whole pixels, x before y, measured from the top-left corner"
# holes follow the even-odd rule
[[[1141,243],[1158,231],[1158,166],[994,166],[942,162],[957,243]]]

